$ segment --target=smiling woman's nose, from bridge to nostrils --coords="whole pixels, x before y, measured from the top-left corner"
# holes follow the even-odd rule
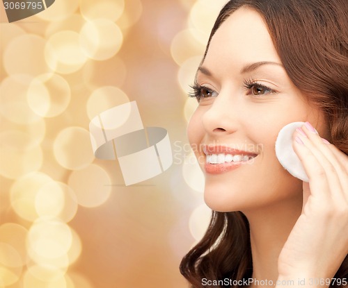
[[[237,103],[226,94],[219,94],[203,115],[203,126],[210,134],[234,133],[238,125]]]

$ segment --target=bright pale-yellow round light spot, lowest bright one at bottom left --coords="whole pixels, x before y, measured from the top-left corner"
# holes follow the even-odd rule
[[[42,217],[28,232],[28,248],[46,259],[66,255],[72,245],[70,227],[57,219]]]

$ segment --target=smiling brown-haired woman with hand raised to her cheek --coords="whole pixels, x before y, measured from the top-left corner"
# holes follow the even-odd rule
[[[221,10],[190,95],[189,141],[213,210],[180,266],[192,287],[348,287],[347,18],[345,0]],[[292,146],[309,183],[274,151],[294,121],[306,122]]]

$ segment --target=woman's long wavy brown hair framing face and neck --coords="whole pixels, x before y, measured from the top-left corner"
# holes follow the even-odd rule
[[[322,110],[330,142],[348,155],[347,0],[229,1],[212,28],[205,56],[216,30],[242,6],[262,15],[287,75],[308,101]],[[251,278],[250,232],[244,214],[213,211],[205,236],[184,256],[180,271],[194,288],[239,287],[225,280],[233,284]],[[219,285],[205,285],[205,278]],[[348,278],[347,256],[335,278]]]

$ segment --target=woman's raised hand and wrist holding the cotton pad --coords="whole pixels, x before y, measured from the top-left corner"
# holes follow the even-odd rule
[[[333,278],[348,253],[348,156],[308,122],[294,133],[293,146],[309,183],[303,183],[302,213],[278,258],[278,280],[329,287],[316,280]]]

